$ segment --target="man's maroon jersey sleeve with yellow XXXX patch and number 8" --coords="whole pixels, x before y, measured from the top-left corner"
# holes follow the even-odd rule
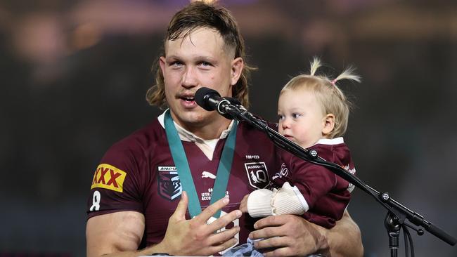
[[[105,153],[94,171],[88,218],[116,211],[143,212],[138,156],[119,143]]]

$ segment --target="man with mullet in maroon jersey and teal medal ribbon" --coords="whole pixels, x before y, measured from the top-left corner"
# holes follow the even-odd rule
[[[297,216],[257,223],[241,216],[243,196],[265,187],[268,172],[278,169],[275,147],[262,132],[207,112],[194,100],[205,86],[247,106],[250,67],[230,13],[190,4],[172,18],[164,45],[157,84],[147,98],[169,110],[113,145],[96,169],[87,255],[207,256],[249,236],[268,238],[255,243],[266,256],[361,256],[359,228],[347,213],[332,230]]]

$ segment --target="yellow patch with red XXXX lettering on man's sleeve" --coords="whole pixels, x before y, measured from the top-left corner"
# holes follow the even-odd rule
[[[102,187],[109,190],[122,192],[122,184],[124,184],[127,173],[117,169],[110,164],[100,164],[94,174],[91,189],[95,187]]]

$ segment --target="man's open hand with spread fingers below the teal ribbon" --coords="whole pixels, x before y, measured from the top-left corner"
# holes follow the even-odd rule
[[[233,246],[237,243],[235,235],[240,231],[240,227],[214,232],[240,218],[241,211],[232,211],[207,224],[212,215],[227,204],[228,198],[220,199],[208,206],[200,215],[186,220],[188,197],[186,192],[183,192],[176,211],[169,218],[165,238],[155,249],[176,256],[209,256]]]

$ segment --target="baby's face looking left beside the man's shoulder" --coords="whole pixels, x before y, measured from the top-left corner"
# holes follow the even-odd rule
[[[323,138],[325,115],[316,95],[306,89],[288,89],[278,100],[279,133],[303,148]]]

